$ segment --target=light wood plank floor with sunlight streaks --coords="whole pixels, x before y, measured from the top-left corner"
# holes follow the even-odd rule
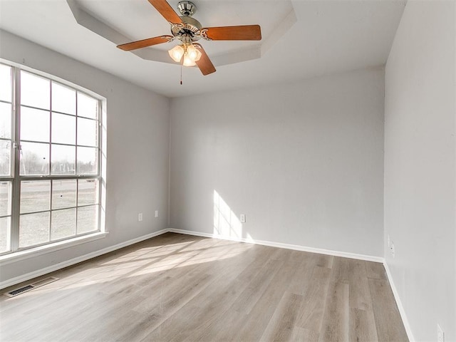
[[[374,262],[164,234],[51,275],[0,296],[2,342],[408,341]]]

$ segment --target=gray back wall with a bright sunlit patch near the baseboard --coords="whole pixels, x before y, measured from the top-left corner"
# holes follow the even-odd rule
[[[383,69],[172,99],[170,227],[383,257],[383,105]]]

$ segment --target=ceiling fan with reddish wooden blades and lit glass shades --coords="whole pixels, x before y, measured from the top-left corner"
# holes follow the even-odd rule
[[[152,6],[170,23],[172,36],[157,36],[118,45],[124,51],[145,48],[161,43],[179,40],[180,45],[170,49],[170,57],[183,66],[197,65],[203,75],[215,72],[209,56],[199,43],[200,38],[207,41],[259,41],[261,28],[259,25],[202,27],[196,19],[196,6],[191,1],[180,1],[177,8],[182,16],[178,16],[166,0],[148,0]]]

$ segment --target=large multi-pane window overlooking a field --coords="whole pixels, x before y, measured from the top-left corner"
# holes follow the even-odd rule
[[[101,105],[0,63],[0,254],[100,232]]]

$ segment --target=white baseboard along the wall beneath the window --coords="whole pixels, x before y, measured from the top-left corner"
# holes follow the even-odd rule
[[[0,289],[4,289],[4,288],[6,288],[8,286],[19,284],[22,281],[28,281],[30,279],[36,278],[37,276],[42,276],[43,274],[48,274],[48,273],[53,272],[53,271],[58,271],[59,269],[63,269],[64,267],[68,267],[68,266],[71,266],[71,265],[74,265],[74,264],[78,264],[79,262],[86,261],[88,259],[92,259],[92,258],[98,257],[98,256],[100,256],[102,254],[113,252],[116,249],[120,249],[120,248],[123,248],[123,247],[130,246],[130,244],[136,244],[138,242],[150,239],[151,237],[156,237],[156,236],[164,234],[166,232],[168,232],[168,229],[162,229],[162,230],[159,230],[158,232],[153,232],[153,233],[150,233],[150,234],[147,234],[147,235],[143,235],[142,237],[137,237],[135,239],[131,239],[131,240],[128,240],[128,241],[125,241],[125,242],[121,242],[120,244],[115,244],[114,246],[106,247],[106,248],[100,249],[98,251],[82,255],[81,257],[76,257],[74,259],[62,261],[62,262],[60,262],[58,264],[45,267],[44,269],[38,269],[38,270],[30,272],[28,274],[23,274],[21,276],[16,276],[15,278],[11,278],[11,279],[8,279],[8,280],[5,280],[5,281],[1,281],[0,282]]]

